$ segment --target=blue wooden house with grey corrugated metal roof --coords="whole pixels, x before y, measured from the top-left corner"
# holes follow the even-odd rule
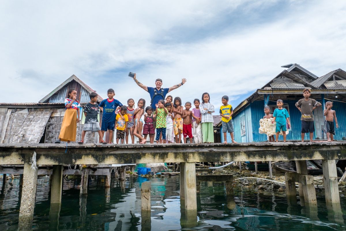
[[[268,105],[273,113],[276,108],[276,100],[282,99],[284,108],[290,114],[291,128],[287,140],[300,140],[301,123],[300,111],[295,103],[303,98],[303,89],[311,89],[311,97],[319,101],[322,106],[313,111],[315,118],[315,140],[325,140],[324,115],[326,101],[333,102],[336,111],[339,128],[335,130],[335,140],[346,139],[346,72],[337,69],[317,77],[315,74],[304,69],[299,64],[282,66],[287,68],[278,74],[265,86],[257,89],[251,96],[244,99],[233,112],[234,136],[237,142],[260,142],[266,141],[265,134],[258,133],[259,121],[264,116],[264,106]],[[221,142],[224,141],[222,126],[220,126]],[[308,140],[308,133],[305,139]],[[228,134],[229,136],[229,134]],[[283,137],[279,136],[279,140]],[[230,141],[230,137],[227,138]]]

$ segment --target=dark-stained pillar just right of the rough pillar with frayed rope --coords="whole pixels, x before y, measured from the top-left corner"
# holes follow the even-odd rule
[[[51,204],[61,203],[61,195],[63,188],[63,166],[54,165],[52,172],[52,183],[51,183]]]

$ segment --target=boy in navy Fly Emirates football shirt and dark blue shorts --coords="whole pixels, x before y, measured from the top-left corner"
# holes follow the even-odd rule
[[[115,128],[115,118],[117,110],[122,106],[122,104],[117,99],[113,99],[115,96],[113,89],[108,89],[107,91],[108,99],[102,100],[99,107],[102,113],[102,124],[101,124],[101,132],[102,137],[104,132],[108,130],[109,132],[109,140],[108,143],[112,142],[113,131]]]

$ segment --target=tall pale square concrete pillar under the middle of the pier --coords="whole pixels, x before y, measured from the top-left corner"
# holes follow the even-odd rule
[[[196,194],[196,167],[195,162],[185,162],[185,209],[197,210]]]

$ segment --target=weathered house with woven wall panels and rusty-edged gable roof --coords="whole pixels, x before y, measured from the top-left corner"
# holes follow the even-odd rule
[[[64,118],[64,99],[71,88],[77,90],[77,100],[82,107],[90,101],[89,94],[94,92],[72,75],[38,103],[0,103],[0,143],[54,143]],[[102,101],[101,96],[98,96],[98,101]],[[84,126],[84,114],[81,114],[77,140]],[[97,142],[97,134],[88,132],[84,142]]]

